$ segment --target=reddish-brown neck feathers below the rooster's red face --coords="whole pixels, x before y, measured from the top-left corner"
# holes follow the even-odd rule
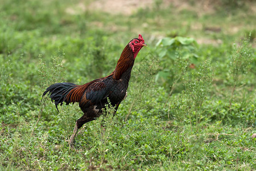
[[[134,64],[134,60],[135,58],[133,57],[132,49],[129,47],[129,44],[127,44],[121,53],[119,60],[117,61],[115,71],[113,71],[113,79],[119,80],[124,72],[131,70]]]

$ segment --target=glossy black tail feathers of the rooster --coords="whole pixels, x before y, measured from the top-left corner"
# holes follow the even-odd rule
[[[63,102],[66,102],[66,104],[69,104],[70,101],[66,100],[66,96],[71,91],[71,89],[75,88],[77,85],[73,83],[55,83],[52,84],[50,87],[46,89],[46,91],[43,92],[43,96],[45,96],[48,93],[50,95],[51,101],[55,103],[55,107],[59,112],[58,104],[62,105]],[[42,96],[42,99],[43,99]],[[42,100],[41,100],[42,101]]]

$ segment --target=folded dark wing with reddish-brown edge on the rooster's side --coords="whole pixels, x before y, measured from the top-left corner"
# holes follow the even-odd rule
[[[91,105],[99,104],[101,101],[107,99],[107,96],[111,93],[110,88],[112,86],[113,79],[111,78],[104,78],[91,83],[80,100],[80,108],[88,108]]]

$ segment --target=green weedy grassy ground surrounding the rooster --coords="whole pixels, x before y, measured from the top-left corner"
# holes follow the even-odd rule
[[[0,1],[0,170],[255,170],[256,4],[112,4]],[[49,99],[35,127],[46,87],[108,75],[138,34],[148,47],[103,134],[92,121],[69,149],[82,112]]]

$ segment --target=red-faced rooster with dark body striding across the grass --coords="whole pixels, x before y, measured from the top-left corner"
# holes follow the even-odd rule
[[[127,96],[127,88],[131,78],[131,71],[135,58],[141,48],[147,46],[144,43],[143,36],[132,39],[125,46],[115,70],[104,78],[93,80],[81,86],[73,83],[55,83],[46,89],[43,96],[50,95],[51,101],[55,103],[58,110],[58,104],[79,103],[80,109],[84,115],[76,120],[74,131],[68,141],[70,147],[73,146],[76,133],[83,124],[95,120],[103,113],[108,99],[115,108],[115,112],[121,101]],[[58,110],[59,111],[59,110]],[[115,112],[113,115],[115,115]]]

